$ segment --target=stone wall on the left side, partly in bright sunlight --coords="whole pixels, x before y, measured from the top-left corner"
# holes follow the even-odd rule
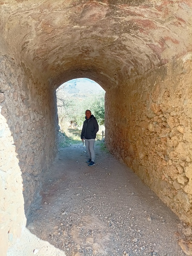
[[[56,154],[55,102],[48,88],[24,64],[0,57],[1,255],[20,235]]]

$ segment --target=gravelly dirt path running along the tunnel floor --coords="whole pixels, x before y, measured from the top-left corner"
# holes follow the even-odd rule
[[[95,152],[90,167],[82,144],[60,149],[8,256],[184,256],[185,224],[131,169]]]

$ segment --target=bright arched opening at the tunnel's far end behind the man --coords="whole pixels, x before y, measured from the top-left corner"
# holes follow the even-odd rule
[[[105,131],[105,91],[98,83],[88,78],[72,79],[61,84],[56,90],[56,95],[60,146],[75,141],[80,143],[86,109],[91,110],[99,124],[97,139],[103,138]]]

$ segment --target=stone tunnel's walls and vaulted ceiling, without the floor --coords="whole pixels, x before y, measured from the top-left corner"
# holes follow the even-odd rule
[[[57,153],[60,84],[102,86],[106,145],[192,225],[190,0],[0,1],[0,244]]]

